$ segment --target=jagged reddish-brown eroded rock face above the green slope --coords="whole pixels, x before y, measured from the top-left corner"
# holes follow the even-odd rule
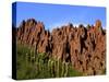
[[[72,67],[88,75],[102,74],[106,69],[106,31],[99,20],[89,28],[69,24],[50,33],[43,22],[29,19],[17,28],[17,40],[35,47],[38,52],[70,61]]]

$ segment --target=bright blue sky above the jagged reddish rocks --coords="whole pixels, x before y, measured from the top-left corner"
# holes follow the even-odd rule
[[[14,15],[13,17],[15,17]],[[106,8],[102,7],[16,2],[16,26],[23,20],[31,17],[44,22],[46,30],[52,30],[68,23],[92,25],[98,19],[106,27]]]

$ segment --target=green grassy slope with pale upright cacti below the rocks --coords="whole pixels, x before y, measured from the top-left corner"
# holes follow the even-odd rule
[[[34,49],[17,45],[17,79],[44,79],[82,75],[70,62],[50,57],[46,52],[35,55]]]

